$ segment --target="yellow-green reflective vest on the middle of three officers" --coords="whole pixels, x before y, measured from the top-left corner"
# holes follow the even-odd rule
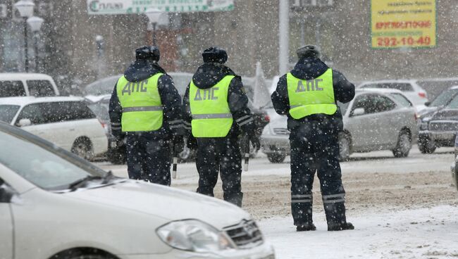
[[[226,137],[233,125],[228,103],[228,91],[233,75],[226,75],[208,89],[190,84],[192,135],[194,137]]]

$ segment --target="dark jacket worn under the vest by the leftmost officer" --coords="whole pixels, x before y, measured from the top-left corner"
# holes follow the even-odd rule
[[[143,134],[149,134],[152,139],[171,139],[173,135],[183,134],[181,98],[177,89],[175,89],[172,77],[167,75],[166,71],[164,71],[157,63],[146,60],[135,61],[135,63],[125,70],[124,75],[129,82],[140,82],[158,72],[164,74],[159,77],[157,85],[163,106],[163,125],[159,130],[147,133],[143,132]],[[113,130],[113,126],[116,127],[116,125],[120,125],[121,116],[123,115],[123,108],[120,106],[116,85],[113,90],[113,94],[111,94],[109,113],[112,123],[111,132],[113,137],[120,139],[123,132],[121,132],[121,130]]]

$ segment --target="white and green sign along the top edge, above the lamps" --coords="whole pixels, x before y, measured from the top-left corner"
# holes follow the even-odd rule
[[[87,0],[90,15],[144,13],[147,8],[164,12],[232,11],[233,0]]]

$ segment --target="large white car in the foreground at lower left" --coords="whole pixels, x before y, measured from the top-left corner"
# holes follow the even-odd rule
[[[113,177],[3,122],[0,146],[0,258],[275,258],[230,203]]]

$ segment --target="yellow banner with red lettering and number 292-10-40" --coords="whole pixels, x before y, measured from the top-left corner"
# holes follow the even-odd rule
[[[435,46],[435,0],[371,0],[371,35],[374,49]]]

